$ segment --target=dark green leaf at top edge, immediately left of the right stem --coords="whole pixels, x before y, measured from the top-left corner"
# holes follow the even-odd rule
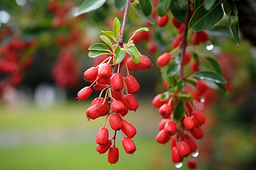
[[[171,0],[170,9],[174,18],[176,18],[180,23],[185,23],[187,10],[181,9],[177,0]]]

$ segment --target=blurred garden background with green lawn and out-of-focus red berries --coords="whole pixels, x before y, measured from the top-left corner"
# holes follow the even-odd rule
[[[0,169],[175,169],[169,146],[155,141],[161,118],[151,105],[154,96],[164,91],[155,58],[171,49],[176,35],[171,22],[164,28],[150,25],[131,8],[125,40],[133,30],[149,27],[149,37],[137,46],[154,66],[136,75],[141,78],[137,94],[140,107],[126,116],[137,128],[133,138],[137,151],[134,156],[127,155],[118,134],[119,161],[110,165],[107,154],[96,152],[96,134],[104,118],[85,118],[97,92],[79,103],[75,98],[88,86],[82,73],[100,61],[88,57],[88,47],[100,42],[101,29],[112,29],[115,16],[122,20],[123,11],[108,1],[98,10],[75,18],[82,1],[57,2],[56,11],[46,0],[0,1],[0,59],[12,41],[30,44],[16,50],[19,75],[0,74]],[[171,12],[169,15],[171,18]],[[236,45],[225,16],[208,33],[208,49],[201,45],[199,50],[220,61],[229,92],[208,92],[205,135],[197,141],[198,169],[254,169],[256,48],[242,34],[240,46]],[[155,53],[149,49],[152,41],[158,44]],[[189,66],[186,71],[189,75]]]

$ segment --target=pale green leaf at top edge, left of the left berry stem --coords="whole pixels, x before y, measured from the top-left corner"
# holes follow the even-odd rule
[[[79,16],[81,14],[85,14],[86,12],[97,10],[97,8],[100,8],[102,5],[104,5],[105,2],[106,0],[85,0],[79,6],[78,10],[75,13],[75,16]]]

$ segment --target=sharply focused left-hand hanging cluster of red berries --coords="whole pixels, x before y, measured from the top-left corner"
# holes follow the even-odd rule
[[[127,55],[121,63],[114,65],[112,63],[113,56],[109,56],[98,66],[90,67],[84,72],[84,80],[92,84],[89,87],[82,88],[77,94],[77,99],[85,100],[92,94],[92,86],[94,90],[101,91],[100,96],[94,99],[86,110],[86,117],[88,120],[94,120],[106,116],[104,126],[98,130],[96,150],[100,154],[108,151],[108,162],[111,164],[117,163],[119,158],[119,150],[115,146],[117,131],[121,131],[123,135],[122,146],[127,154],[134,154],[137,150],[131,139],[137,133],[137,130],[123,118],[129,111],[135,112],[139,107],[134,94],[140,90],[140,86],[134,76],[129,74],[128,67],[133,70],[135,68],[146,70],[151,66],[151,62],[143,55],[141,55],[141,62],[137,64],[133,61],[129,62],[130,58]],[[125,77],[121,74],[121,66],[126,67],[127,75]],[[104,91],[105,97],[101,97]],[[112,139],[109,139],[109,131],[105,128],[108,117],[110,127],[114,130]]]

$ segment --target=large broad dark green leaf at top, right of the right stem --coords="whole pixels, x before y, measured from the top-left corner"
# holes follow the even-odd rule
[[[213,27],[224,15],[220,2],[221,1],[216,1],[209,11],[205,10],[204,5],[197,8],[189,21],[188,28],[194,31],[204,31],[205,29]]]

